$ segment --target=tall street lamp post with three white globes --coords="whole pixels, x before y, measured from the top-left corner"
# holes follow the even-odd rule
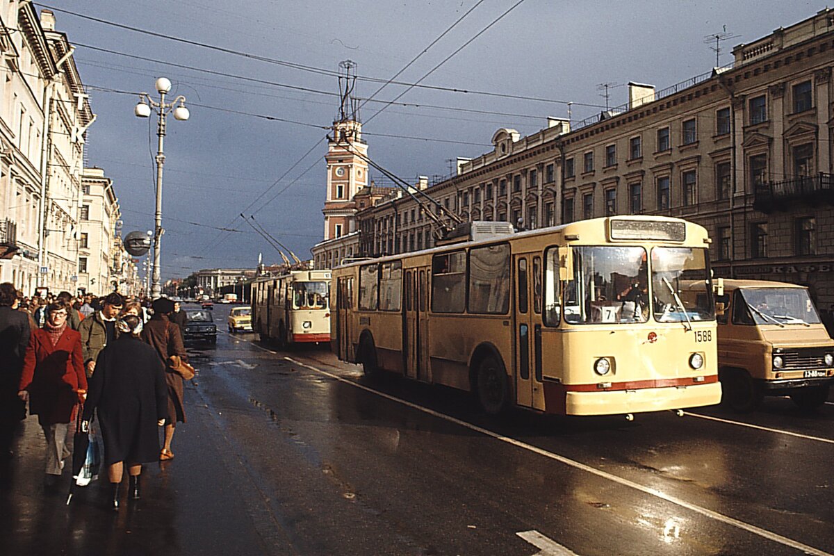
[[[185,97],[179,95],[170,103],[165,102],[165,95],[171,90],[171,82],[167,78],[158,78],[155,83],[156,90],[159,93],[159,101],[150,98],[148,93],[139,94],[139,102],[133,113],[137,118],[148,118],[154,109],[158,113],[157,123],[157,181],[156,181],[156,212],[153,214],[153,283],[151,285],[151,298],[158,298],[162,293],[161,276],[159,270],[159,243],[162,239],[162,234],[165,232],[162,228],[162,168],[165,163],[165,153],[163,150],[163,138],[165,137],[165,118],[168,113],[173,111],[173,118],[184,122],[188,119],[188,108],[185,108]],[[175,105],[179,104],[178,106]]]

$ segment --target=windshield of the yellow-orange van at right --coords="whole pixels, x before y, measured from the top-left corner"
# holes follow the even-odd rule
[[[820,316],[805,288],[742,289],[748,318],[756,324],[816,324]]]

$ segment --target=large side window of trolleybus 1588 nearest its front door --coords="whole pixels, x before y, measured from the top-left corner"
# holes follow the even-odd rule
[[[470,249],[469,312],[505,314],[509,310],[510,245]]]

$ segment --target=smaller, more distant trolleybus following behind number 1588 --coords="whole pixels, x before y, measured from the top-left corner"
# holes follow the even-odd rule
[[[329,270],[292,270],[252,283],[252,323],[281,347],[330,341]]]

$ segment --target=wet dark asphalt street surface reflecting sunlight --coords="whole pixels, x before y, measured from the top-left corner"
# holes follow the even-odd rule
[[[485,418],[464,393],[229,335],[228,309],[217,348],[191,350],[176,458],[145,468],[138,502],[113,514],[93,483],[68,507],[68,473],[44,493],[24,423],[0,554],[834,553],[832,403]]]

